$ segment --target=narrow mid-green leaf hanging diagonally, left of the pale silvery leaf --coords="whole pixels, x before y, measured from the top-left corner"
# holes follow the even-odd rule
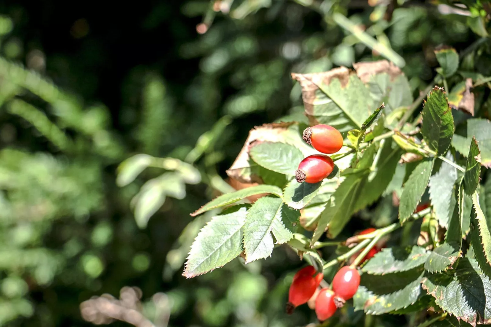
[[[428,186],[434,159],[424,159],[411,172],[404,185],[399,204],[399,220],[405,222],[416,210],[421,196]]]

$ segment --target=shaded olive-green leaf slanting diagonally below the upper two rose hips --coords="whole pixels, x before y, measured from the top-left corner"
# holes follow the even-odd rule
[[[326,228],[328,228],[327,236],[334,238],[348,223],[353,214],[363,178],[362,174],[348,175],[334,191],[317,222],[311,245],[319,240]]]

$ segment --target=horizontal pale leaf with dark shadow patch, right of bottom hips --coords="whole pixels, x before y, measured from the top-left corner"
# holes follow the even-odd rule
[[[429,255],[424,247],[417,245],[382,248],[361,271],[375,275],[405,272],[423,265]]]

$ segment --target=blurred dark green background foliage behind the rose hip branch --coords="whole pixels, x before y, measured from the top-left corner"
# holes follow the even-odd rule
[[[286,248],[181,276],[214,214],[189,213],[233,190],[224,171],[249,129],[306,121],[291,72],[396,58],[417,96],[444,44],[460,54],[457,74],[490,76],[489,4],[434,2],[2,2],[0,326],[91,326],[80,303],[124,286],[141,289],[143,302],[132,303],[156,326],[314,321],[308,308],[284,312],[301,265]],[[123,161],[133,162],[116,180]],[[354,221],[348,235],[369,224]],[[362,313],[343,310],[329,325],[364,324]]]

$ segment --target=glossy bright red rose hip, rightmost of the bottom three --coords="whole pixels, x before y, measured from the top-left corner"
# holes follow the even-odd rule
[[[353,298],[360,285],[360,274],[351,266],[341,268],[332,279],[332,290],[336,293],[334,302],[342,307],[346,300]]]

